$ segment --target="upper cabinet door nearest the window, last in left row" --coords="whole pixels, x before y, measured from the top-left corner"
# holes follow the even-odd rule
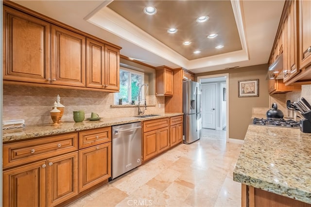
[[[120,51],[105,46],[105,86],[104,89],[119,91]]]

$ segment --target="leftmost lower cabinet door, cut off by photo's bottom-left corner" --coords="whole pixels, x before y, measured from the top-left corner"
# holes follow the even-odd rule
[[[4,207],[46,206],[46,161],[3,172]]]

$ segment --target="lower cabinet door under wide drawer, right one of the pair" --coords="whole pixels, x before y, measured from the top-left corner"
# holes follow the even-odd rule
[[[47,186],[49,207],[78,194],[78,152],[48,159]]]

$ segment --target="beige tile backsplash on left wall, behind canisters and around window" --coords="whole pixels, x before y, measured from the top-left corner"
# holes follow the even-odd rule
[[[24,119],[26,125],[52,124],[50,111],[56,96],[65,106],[62,120],[73,122],[72,111],[84,110],[86,118],[91,112],[100,117],[122,117],[137,115],[137,107],[111,107],[113,93],[78,89],[60,89],[23,85],[3,85],[2,120]],[[164,96],[147,96],[149,113],[164,113]]]

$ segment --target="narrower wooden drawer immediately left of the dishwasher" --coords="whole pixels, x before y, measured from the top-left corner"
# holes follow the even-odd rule
[[[79,149],[111,141],[111,127],[79,132]]]

